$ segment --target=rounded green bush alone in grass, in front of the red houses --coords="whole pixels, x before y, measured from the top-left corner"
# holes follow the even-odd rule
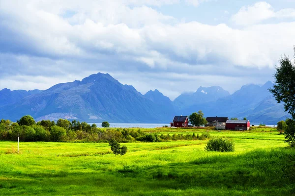
[[[233,152],[235,151],[235,144],[227,138],[215,137],[208,141],[205,150],[217,152]]]

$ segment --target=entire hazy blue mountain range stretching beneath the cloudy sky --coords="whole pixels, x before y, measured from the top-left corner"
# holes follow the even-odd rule
[[[82,81],[60,83],[40,91],[0,91],[0,119],[16,121],[31,115],[42,119],[99,123],[170,123],[174,116],[202,110],[205,116],[226,116],[251,123],[276,124],[289,117],[268,92],[273,84],[249,84],[230,94],[220,86],[200,87],[174,101],[158,90],[145,95],[123,85],[108,73],[92,74]]]

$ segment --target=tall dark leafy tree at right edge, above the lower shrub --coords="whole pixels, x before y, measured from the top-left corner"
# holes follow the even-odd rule
[[[278,103],[284,102],[285,111],[295,120],[295,63],[284,55],[275,69],[274,78],[275,85],[269,91]]]

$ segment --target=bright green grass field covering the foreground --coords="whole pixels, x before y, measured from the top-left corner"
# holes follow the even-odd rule
[[[235,152],[207,152],[207,141],[126,143],[115,157],[106,143],[0,142],[0,195],[295,195],[295,149],[275,129],[203,133],[235,142]]]

